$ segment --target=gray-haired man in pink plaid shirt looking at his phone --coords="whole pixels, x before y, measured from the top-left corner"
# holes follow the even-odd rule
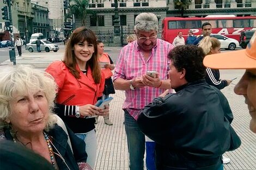
[[[136,17],[137,41],[121,49],[113,77],[115,89],[125,90],[123,110],[131,170],[144,169],[145,136],[138,128],[136,121],[138,115],[145,105],[166,89],[170,89],[170,80],[168,80],[170,61],[167,55],[173,45],[157,39],[157,28],[158,20],[155,14],[141,13]],[[146,74],[147,71],[156,71],[156,76],[150,77]],[[154,144],[149,147],[154,152]],[[149,160],[147,153],[147,169],[150,170],[155,169],[153,154],[151,153],[153,158]]]

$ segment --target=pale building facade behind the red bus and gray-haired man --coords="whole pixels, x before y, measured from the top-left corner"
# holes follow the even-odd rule
[[[97,37],[105,43],[112,43],[114,29],[114,0],[89,0],[88,9],[96,15],[88,15],[86,26],[94,30]],[[167,16],[181,16],[181,10],[176,9],[174,0],[119,0],[118,14],[121,26],[122,41],[133,33],[135,17],[141,12],[153,12],[161,21]],[[207,15],[256,16],[256,0],[192,0],[184,10],[184,17],[205,17]],[[79,18],[75,26],[80,27]],[[161,31],[158,33],[161,37]]]

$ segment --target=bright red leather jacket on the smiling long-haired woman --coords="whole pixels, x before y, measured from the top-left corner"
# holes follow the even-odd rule
[[[77,66],[78,68],[78,66]],[[79,70],[79,69],[78,69]],[[76,79],[62,61],[55,61],[46,68],[58,85],[57,103],[65,105],[95,104],[101,97],[105,85],[105,76],[101,73],[101,82],[94,83],[92,70],[80,71],[80,79]]]

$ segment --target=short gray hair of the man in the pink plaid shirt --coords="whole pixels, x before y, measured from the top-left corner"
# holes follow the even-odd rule
[[[135,18],[135,31],[150,32],[151,30],[158,30],[158,20],[155,14],[143,12]]]

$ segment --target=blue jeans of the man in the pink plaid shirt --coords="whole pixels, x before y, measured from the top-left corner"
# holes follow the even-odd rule
[[[125,132],[129,150],[130,170],[144,169],[145,135],[139,130],[137,121],[125,111]]]

